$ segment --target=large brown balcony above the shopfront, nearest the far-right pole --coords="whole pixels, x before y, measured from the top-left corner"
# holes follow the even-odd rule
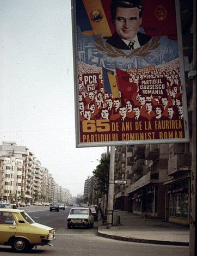
[[[192,153],[182,153],[171,157],[168,161],[168,175],[191,170]]]

